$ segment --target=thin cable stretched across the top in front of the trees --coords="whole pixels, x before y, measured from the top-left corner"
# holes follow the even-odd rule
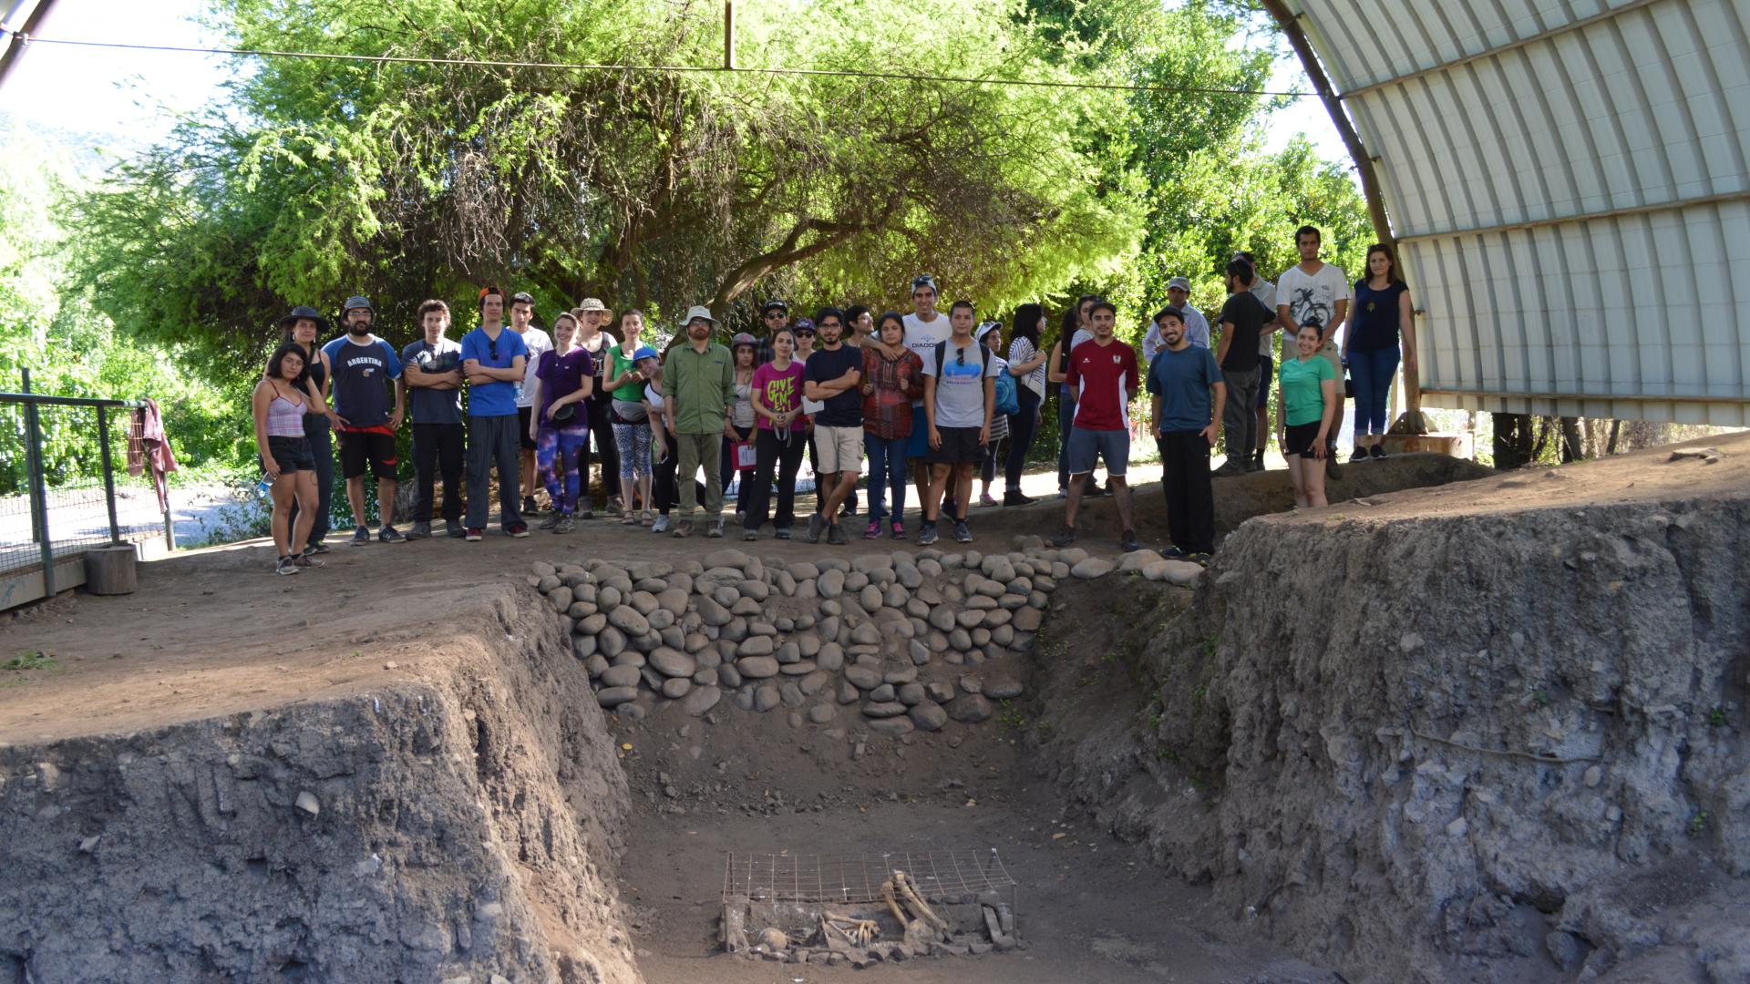
[[[304,58],[313,61],[362,61],[376,65],[439,65],[453,68],[546,68],[555,72],[653,72],[653,74],[744,74],[744,75],[821,75],[838,79],[886,79],[903,82],[950,82],[962,86],[1032,86],[1045,89],[1104,89],[1120,93],[1167,93],[1202,96],[1288,96],[1306,98],[1312,93],[1279,89],[1234,89],[1218,86],[1127,86],[1122,82],[1060,82],[1054,79],[980,79],[971,75],[908,75],[905,72],[864,72],[852,68],[728,68],[723,65],[593,65],[586,61],[499,61],[488,58],[422,58],[406,54],[340,54],[329,51],[271,51],[254,47],[196,47],[178,44],[128,44],[119,40],[75,40],[33,37],[23,32],[19,44],[58,44],[65,47],[103,47],[112,51],[168,51],[178,54],[226,54],[236,58]]]

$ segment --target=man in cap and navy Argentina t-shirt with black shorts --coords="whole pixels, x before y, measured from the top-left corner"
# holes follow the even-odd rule
[[[371,543],[371,525],[364,518],[364,471],[376,476],[376,511],[382,525],[376,539],[404,543],[396,531],[396,431],[401,429],[404,390],[401,359],[392,345],[371,334],[376,310],[371,301],[354,296],[340,312],[346,334],[329,341],[322,352],[334,373],[334,415],[340,418],[340,471],[346,478],[352,504],[354,546]]]

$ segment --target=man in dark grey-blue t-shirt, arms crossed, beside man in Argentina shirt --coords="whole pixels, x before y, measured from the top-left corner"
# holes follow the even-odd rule
[[[462,347],[444,338],[450,305],[420,305],[424,338],[401,350],[401,385],[413,406],[413,529],[408,539],[432,534],[434,473],[443,473],[443,522],[462,536]]]

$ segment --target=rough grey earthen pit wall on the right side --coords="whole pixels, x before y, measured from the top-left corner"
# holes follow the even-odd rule
[[[1141,699],[1043,758],[1349,980],[1750,980],[1745,531],[1745,501],[1248,522],[1141,630]]]

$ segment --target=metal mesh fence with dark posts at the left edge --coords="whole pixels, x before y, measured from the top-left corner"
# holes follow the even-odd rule
[[[150,469],[128,471],[138,401],[0,392],[0,609],[84,581],[84,553],[175,546]]]

